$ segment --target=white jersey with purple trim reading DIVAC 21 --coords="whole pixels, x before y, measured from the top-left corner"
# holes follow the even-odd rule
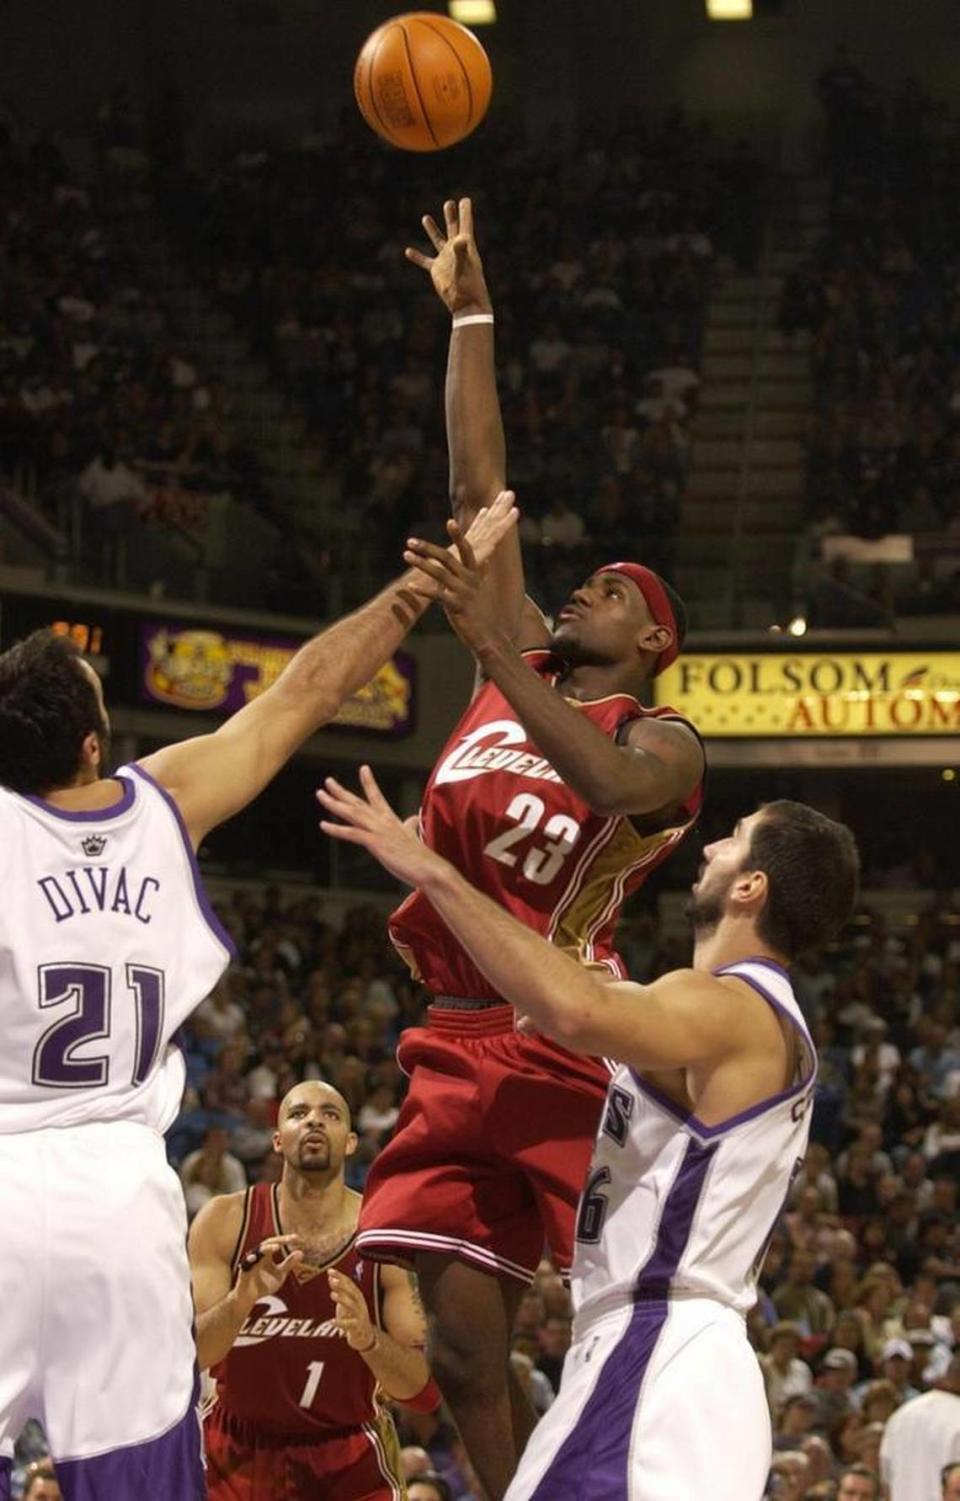
[[[0,1132],[180,1108],[174,1034],[232,944],[170,794],[138,766],[66,812],[0,788]]]

